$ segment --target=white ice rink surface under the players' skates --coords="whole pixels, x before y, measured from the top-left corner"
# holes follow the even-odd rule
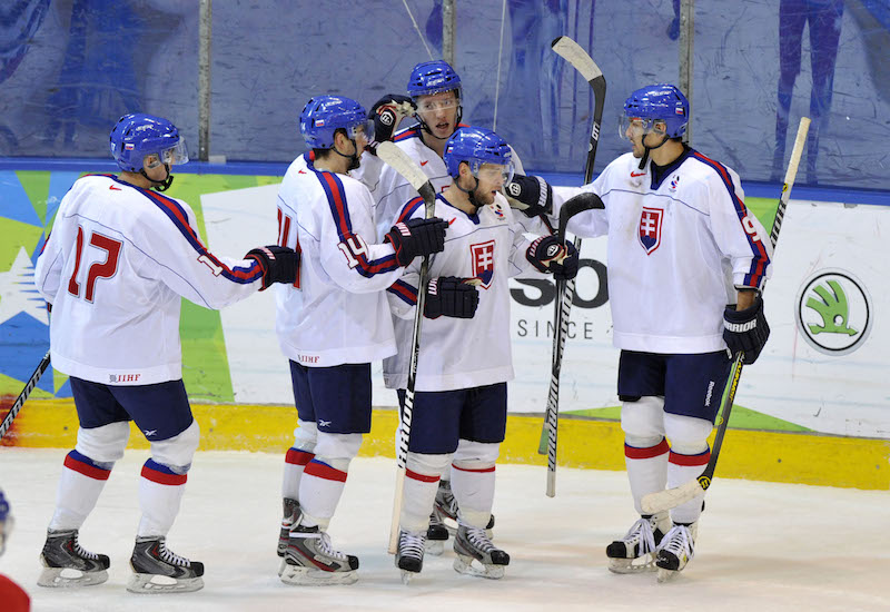
[[[32,610],[234,612],[380,610],[633,612],[890,610],[890,492],[715,480],[698,552],[672,583],[607,571],[605,545],[635,520],[624,473],[497,467],[495,541],[511,554],[500,581],[459,575],[454,553],[427,555],[409,585],[386,554],[395,463],[359,458],[330,526],[358,555],[359,581],[295,588],[277,576],[283,456],[198,453],[170,549],[206,564],[205,588],[177,595],[125,591],[147,452],[128,451],[109,478],[81,544],[111,557],[109,580],[77,591],[37,586],[63,450],[0,448],[0,486],[16,516],[0,572],[31,594]],[[886,467],[886,466],[882,466]],[[864,468],[864,467],[863,467]],[[719,473],[718,473],[719,475]],[[0,602],[0,611],[3,605]]]

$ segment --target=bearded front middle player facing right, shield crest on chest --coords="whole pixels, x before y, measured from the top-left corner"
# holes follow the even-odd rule
[[[577,253],[553,236],[532,241],[514,223],[498,193],[512,175],[512,151],[500,136],[461,128],[444,155],[453,182],[437,196],[436,215],[448,221],[448,240],[432,258],[432,280],[423,287],[427,320],[419,340],[396,566],[406,578],[421,571],[429,512],[439,478],[451,467],[459,509],[454,569],[501,578],[510,556],[492,544],[485,527],[506,425],[506,382],[513,378],[507,278],[530,267],[572,278]],[[423,215],[422,198],[414,198],[398,219]],[[419,263],[409,266],[388,289],[399,349],[384,361],[384,382],[398,389],[403,405],[418,269]],[[476,348],[467,349],[467,338]]]

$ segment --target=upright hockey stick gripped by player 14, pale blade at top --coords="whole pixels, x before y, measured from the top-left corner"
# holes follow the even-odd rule
[[[424,198],[424,217],[433,217],[436,209],[436,191],[419,166],[408,155],[392,142],[377,146],[377,157],[393,167]],[[417,359],[421,355],[421,325],[424,319],[426,304],[426,285],[429,283],[429,256],[421,264],[421,278],[417,283],[417,309],[414,313],[414,334],[411,339],[411,361],[408,362],[408,385],[405,389],[405,405],[402,408],[398,427],[398,445],[396,446],[396,491],[393,497],[393,521],[389,524],[389,554],[398,547],[398,522],[402,514],[402,502],[405,495],[405,473],[408,465],[408,442],[411,440],[411,419],[414,412],[414,386],[417,381]]]

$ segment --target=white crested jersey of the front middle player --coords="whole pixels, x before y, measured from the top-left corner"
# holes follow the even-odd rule
[[[479,304],[473,318],[424,318],[416,389],[452,391],[510,381],[513,359],[507,278],[531,267],[525,258],[531,240],[514,223],[513,210],[501,195],[477,215],[467,215],[438,195],[435,214],[449,225],[445,250],[431,258],[429,277],[476,277],[482,285],[477,287]],[[423,216],[423,200],[415,198],[399,219]],[[419,257],[415,259],[388,290],[399,349],[383,363],[384,383],[389,388],[407,386],[421,261]]]

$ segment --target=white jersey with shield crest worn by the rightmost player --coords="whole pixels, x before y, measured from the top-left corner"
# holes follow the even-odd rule
[[[581,191],[605,210],[572,218],[568,231],[609,236],[613,343],[649,353],[709,353],[726,347],[723,309],[733,288],[760,288],[770,275],[769,234],[744,206],[739,175],[688,149],[653,185],[625,154],[590,185],[554,188],[554,215]]]

